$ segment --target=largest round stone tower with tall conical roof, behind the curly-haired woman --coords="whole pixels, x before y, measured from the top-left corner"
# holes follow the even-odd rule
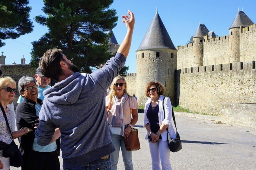
[[[145,104],[145,87],[150,81],[158,81],[164,85],[164,95],[174,101],[177,50],[157,11],[136,50],[136,61],[136,96],[139,105]]]

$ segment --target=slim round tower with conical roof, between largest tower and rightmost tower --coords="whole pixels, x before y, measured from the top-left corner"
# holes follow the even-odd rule
[[[203,36],[207,36],[209,30],[204,24],[200,24],[193,36],[194,60],[191,60],[191,67],[203,66]]]

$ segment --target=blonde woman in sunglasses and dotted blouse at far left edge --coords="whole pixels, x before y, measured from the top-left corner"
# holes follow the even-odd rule
[[[3,77],[0,79],[0,104],[4,109],[4,112],[0,109],[0,141],[6,144],[11,144],[12,137],[15,139],[32,131],[32,129],[27,128],[27,126],[24,126],[18,131],[14,131],[15,122],[11,119],[11,110],[8,104],[13,102],[16,91],[16,82],[11,77]],[[5,116],[11,133],[6,123]],[[2,150],[0,150],[0,169],[10,169],[10,158],[3,157]]]

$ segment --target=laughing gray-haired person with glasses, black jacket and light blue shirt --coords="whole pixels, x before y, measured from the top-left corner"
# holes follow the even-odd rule
[[[23,76],[18,82],[20,95],[24,100],[16,108],[16,123],[17,128],[29,127],[34,129],[39,123],[39,112],[42,105],[42,100],[38,99],[38,89],[34,78]],[[19,138],[20,151],[25,164],[21,167],[22,170],[40,169],[40,170],[59,170],[59,158],[54,142],[60,136],[60,131],[57,128],[52,139],[49,139],[50,144],[40,146],[37,144],[34,131],[29,135]]]

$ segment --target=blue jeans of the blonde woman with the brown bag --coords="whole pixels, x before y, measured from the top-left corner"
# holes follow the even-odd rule
[[[112,134],[111,131],[110,131],[110,136],[112,139],[112,143],[116,149],[114,152],[110,154],[112,170],[117,170],[120,147],[122,150],[123,163],[124,163],[125,170],[133,170],[132,151],[128,151],[125,149],[123,136]]]

